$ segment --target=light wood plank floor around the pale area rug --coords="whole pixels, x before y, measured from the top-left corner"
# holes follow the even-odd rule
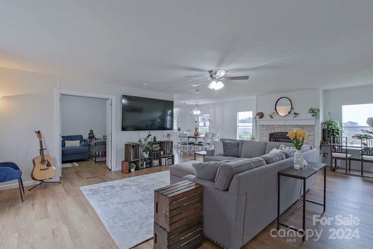
[[[176,162],[192,159],[190,155],[175,155]],[[197,156],[197,160],[201,157]],[[79,187],[168,169],[168,166],[159,166],[123,174],[110,171],[103,163],[85,161],[79,162],[79,166],[63,168],[62,184],[44,184],[32,191],[28,191],[31,186],[27,186],[23,203],[18,188],[3,190],[0,193],[0,248],[117,248]],[[369,174],[361,178],[358,171],[351,174],[356,175],[327,170],[325,213],[321,206],[307,203],[306,228],[318,232],[323,229],[320,240],[302,242],[297,238],[295,242],[286,242],[289,237],[271,237],[270,231],[276,227],[274,221],[243,248],[373,248],[373,177]],[[321,202],[322,190],[322,179],[316,177],[307,199]],[[333,219],[331,225],[313,225],[313,214],[358,216],[360,224],[337,226]],[[301,206],[284,222],[301,228]],[[352,231],[358,228],[360,238],[328,239],[331,228],[351,228]],[[153,248],[153,240],[136,248]],[[201,248],[220,247],[205,238]]]

